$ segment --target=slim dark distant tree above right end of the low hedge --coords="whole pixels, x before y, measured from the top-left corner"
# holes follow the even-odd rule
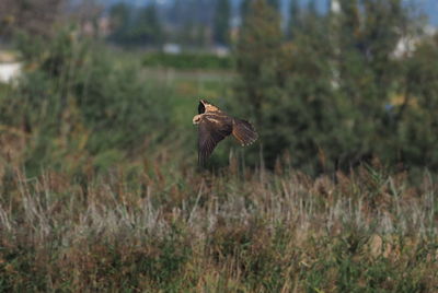
[[[228,45],[230,40],[231,8],[229,0],[218,0],[215,14],[215,42]]]

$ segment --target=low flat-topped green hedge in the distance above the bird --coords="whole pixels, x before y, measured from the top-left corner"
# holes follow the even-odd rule
[[[143,58],[147,67],[164,67],[183,70],[230,70],[233,60],[230,57],[218,57],[212,54],[183,52],[177,55],[163,52],[149,52]]]

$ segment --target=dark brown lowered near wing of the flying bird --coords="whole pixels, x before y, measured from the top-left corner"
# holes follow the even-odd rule
[[[198,129],[198,163],[205,165],[219,141],[230,136],[232,124],[222,117],[204,117]]]

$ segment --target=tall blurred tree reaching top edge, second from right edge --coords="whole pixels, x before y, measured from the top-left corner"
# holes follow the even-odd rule
[[[396,141],[393,120],[388,119],[387,106],[400,89],[401,73],[392,58],[408,12],[401,0],[339,1],[335,17],[337,43],[334,44],[333,70],[338,73],[338,95],[347,107],[354,126],[349,150],[343,165],[378,154],[394,160],[391,143]],[[379,143],[374,143],[379,141]]]

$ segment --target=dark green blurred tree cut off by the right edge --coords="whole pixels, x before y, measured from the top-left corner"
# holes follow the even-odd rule
[[[396,108],[396,159],[438,171],[438,35],[417,46],[405,70],[403,101]]]

